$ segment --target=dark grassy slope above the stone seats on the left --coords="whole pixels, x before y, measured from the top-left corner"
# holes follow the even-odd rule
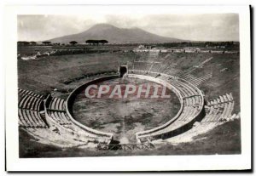
[[[49,94],[53,89],[73,90],[77,82],[87,75],[98,72],[118,71],[118,65],[129,60],[125,54],[75,54],[49,56],[38,60],[18,60],[18,82],[20,88],[38,94]],[[79,79],[77,79],[79,77]]]

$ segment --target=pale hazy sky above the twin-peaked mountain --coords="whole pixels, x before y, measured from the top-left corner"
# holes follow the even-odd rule
[[[139,27],[164,37],[239,41],[238,14],[19,15],[18,40],[42,41],[79,33],[99,23]]]

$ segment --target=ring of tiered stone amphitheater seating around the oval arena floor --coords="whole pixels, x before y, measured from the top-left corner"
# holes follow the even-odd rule
[[[157,52],[149,54],[147,60],[131,60],[119,65],[117,71],[107,75],[98,74],[74,88],[67,99],[52,94],[36,94],[31,90],[18,88],[19,93],[19,128],[31,134],[38,143],[65,148],[90,148],[96,150],[154,150],[165,142],[171,144],[188,142],[193,137],[207,133],[217,126],[240,118],[240,112],[233,113],[235,101],[233,94],[227,92],[214,99],[201,90],[203,82],[212,78],[208,72],[201,77],[192,74],[203,67],[212,58],[186,70],[170,70],[175,63],[168,64],[157,61]],[[170,54],[166,54],[168,57]],[[113,144],[115,133],[107,133],[90,128],[76,121],[73,116],[74,99],[81,90],[92,83],[113,80],[119,77],[148,80],[166,85],[180,103],[176,116],[164,124],[134,133],[135,143]]]

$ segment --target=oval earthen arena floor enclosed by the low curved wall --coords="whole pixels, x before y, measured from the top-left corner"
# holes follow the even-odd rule
[[[101,82],[101,85],[159,85],[135,78],[118,78],[108,82]],[[123,87],[125,91],[125,87]],[[154,90],[153,90],[154,91]],[[152,91],[152,92],[153,92]],[[161,94],[161,91],[159,91]],[[180,109],[177,96],[171,91],[166,91],[169,99],[150,99],[129,96],[126,99],[88,99],[81,91],[73,105],[74,118],[87,127],[114,133],[113,139],[120,142],[136,143],[135,133],[151,128],[156,128],[174,117]],[[137,95],[137,94],[136,94]],[[84,108],[86,107],[86,108]]]

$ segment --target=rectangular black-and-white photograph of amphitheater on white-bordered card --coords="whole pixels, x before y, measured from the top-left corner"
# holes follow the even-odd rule
[[[18,159],[241,156],[241,13],[122,7],[15,15]]]

